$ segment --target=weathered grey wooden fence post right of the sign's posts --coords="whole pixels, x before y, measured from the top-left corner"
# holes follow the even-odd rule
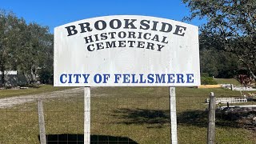
[[[208,113],[208,129],[207,129],[207,144],[214,144],[215,139],[215,106],[216,98],[214,93],[210,93],[209,113]]]

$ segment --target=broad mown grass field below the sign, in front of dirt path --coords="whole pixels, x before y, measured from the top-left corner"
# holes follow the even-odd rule
[[[206,143],[207,105],[203,102],[211,91],[217,96],[240,95],[238,91],[224,89],[176,89],[179,143]],[[100,87],[92,90],[91,97],[92,141],[170,143],[168,87]],[[46,133],[50,141],[69,139],[82,143],[83,101],[82,93],[76,98],[44,101]],[[216,126],[216,143],[256,142],[255,132],[240,128],[235,122],[217,118]],[[35,102],[0,109],[0,143],[38,142]]]

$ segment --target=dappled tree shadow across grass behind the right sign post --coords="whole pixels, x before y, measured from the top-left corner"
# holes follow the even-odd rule
[[[118,109],[114,110],[114,117],[122,119],[120,123],[148,124],[148,128],[162,128],[170,123],[170,110],[147,109]],[[208,126],[208,111],[188,110],[177,113],[177,122],[187,126]],[[222,114],[216,113],[216,126],[239,127],[238,122],[227,120]]]

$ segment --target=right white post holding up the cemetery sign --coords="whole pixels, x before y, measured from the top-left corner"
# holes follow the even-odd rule
[[[175,87],[169,87],[169,90],[170,90],[170,129],[171,129],[170,134],[171,134],[171,143],[172,144],[178,144]]]

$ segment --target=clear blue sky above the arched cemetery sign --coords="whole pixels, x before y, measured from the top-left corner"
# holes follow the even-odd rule
[[[190,11],[181,0],[0,0],[0,9],[11,10],[26,22],[54,27],[106,15],[146,15],[182,21]],[[202,21],[190,23],[200,26]]]

